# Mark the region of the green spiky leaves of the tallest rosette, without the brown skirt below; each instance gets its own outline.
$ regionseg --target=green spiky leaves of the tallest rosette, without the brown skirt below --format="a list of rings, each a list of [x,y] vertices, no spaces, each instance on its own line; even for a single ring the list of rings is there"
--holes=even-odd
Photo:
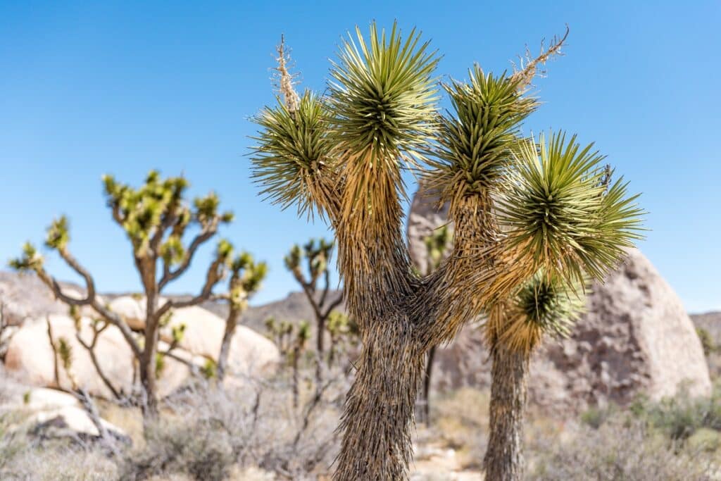
[[[428,47],[415,29],[403,38],[395,22],[387,34],[373,22],[368,40],[356,27],[355,37],[343,41],[332,63],[328,101],[341,151],[371,154],[372,162],[421,156],[433,135],[438,100],[438,57]]]

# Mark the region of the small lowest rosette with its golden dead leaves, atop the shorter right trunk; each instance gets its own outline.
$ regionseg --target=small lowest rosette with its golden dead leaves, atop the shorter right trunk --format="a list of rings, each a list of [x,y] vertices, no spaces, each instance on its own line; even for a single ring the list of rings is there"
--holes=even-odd
[[[531,353],[544,334],[567,337],[583,312],[583,286],[539,270],[510,301],[491,309],[485,334],[491,345]]]

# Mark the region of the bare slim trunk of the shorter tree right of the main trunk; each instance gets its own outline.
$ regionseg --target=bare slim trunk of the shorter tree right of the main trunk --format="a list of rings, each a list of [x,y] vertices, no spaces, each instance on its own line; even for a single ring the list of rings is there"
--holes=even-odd
[[[528,355],[497,346],[492,354],[490,438],[483,460],[487,481],[521,481]]]

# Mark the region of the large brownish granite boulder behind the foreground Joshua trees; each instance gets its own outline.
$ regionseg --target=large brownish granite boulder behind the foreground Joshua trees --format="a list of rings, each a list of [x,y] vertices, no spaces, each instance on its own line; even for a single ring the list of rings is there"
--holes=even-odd
[[[430,212],[430,213],[429,213]],[[430,219],[430,221],[429,221]],[[425,265],[423,237],[446,222],[427,199],[413,201],[408,237],[413,259]],[[637,394],[652,398],[708,394],[704,352],[681,300],[639,250],[603,283],[594,283],[588,312],[566,340],[547,339],[534,355],[528,389],[547,412],[574,412]],[[438,350],[436,389],[490,385],[490,362],[477,325]]]

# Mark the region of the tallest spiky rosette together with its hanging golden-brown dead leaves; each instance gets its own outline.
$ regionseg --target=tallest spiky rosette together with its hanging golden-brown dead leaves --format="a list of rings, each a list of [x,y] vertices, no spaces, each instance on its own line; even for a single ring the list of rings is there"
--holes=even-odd
[[[438,58],[412,30],[394,24],[368,40],[356,27],[340,45],[330,71],[332,141],[345,181],[342,219],[349,230],[392,237],[402,212],[401,168],[416,164],[433,137]]]

